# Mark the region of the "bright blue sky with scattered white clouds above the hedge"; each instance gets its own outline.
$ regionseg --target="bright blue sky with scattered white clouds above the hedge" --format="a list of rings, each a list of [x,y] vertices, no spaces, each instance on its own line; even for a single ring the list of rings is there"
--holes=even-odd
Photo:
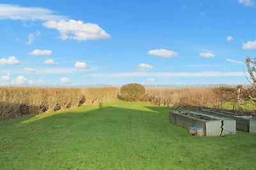
[[[0,85],[246,84],[256,4],[1,1]]]

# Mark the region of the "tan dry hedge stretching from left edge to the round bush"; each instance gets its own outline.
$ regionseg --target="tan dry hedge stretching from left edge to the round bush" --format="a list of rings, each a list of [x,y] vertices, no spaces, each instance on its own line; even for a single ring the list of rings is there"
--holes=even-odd
[[[118,88],[0,87],[0,120],[116,99]]]

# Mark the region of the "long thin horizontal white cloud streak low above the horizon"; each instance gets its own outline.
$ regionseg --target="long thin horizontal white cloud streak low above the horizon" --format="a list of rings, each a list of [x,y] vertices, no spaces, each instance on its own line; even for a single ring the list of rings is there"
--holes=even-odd
[[[226,77],[226,76],[244,76],[244,72],[220,72],[220,71],[205,71],[205,72],[161,72],[161,73],[145,73],[145,72],[134,72],[134,73],[106,73],[106,74],[86,74],[89,77]]]

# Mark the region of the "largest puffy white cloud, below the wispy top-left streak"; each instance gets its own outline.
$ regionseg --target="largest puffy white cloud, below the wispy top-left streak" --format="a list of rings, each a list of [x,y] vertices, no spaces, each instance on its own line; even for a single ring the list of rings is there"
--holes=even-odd
[[[97,24],[83,23],[81,20],[50,20],[44,22],[44,26],[49,29],[57,29],[60,32],[60,38],[76,39],[78,41],[108,39],[109,34]]]

